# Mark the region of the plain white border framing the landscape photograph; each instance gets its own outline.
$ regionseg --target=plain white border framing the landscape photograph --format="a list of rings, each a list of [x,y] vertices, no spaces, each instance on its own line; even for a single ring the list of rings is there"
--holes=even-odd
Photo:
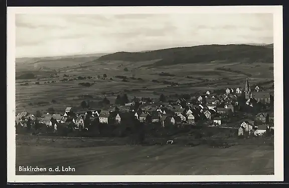
[[[15,174],[15,14],[273,13],[274,17],[274,175],[16,175]],[[200,182],[283,181],[282,6],[8,7],[7,161],[8,182]]]

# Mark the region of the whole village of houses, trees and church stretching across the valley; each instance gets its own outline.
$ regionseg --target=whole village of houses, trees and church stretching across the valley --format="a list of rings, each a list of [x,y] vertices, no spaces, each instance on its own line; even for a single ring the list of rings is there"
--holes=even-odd
[[[123,99],[124,97],[124,99]],[[106,99],[106,98],[105,98]],[[274,129],[273,96],[258,86],[251,88],[246,79],[244,88],[226,88],[225,93],[207,90],[200,95],[167,100],[161,94],[158,101],[150,98],[118,96],[116,104],[103,109],[77,112],[66,107],[63,113],[16,115],[16,132],[23,129],[43,129],[57,133],[60,130],[94,131],[96,126],[141,123],[156,126],[214,126],[233,128],[238,136],[272,135]],[[125,128],[124,128],[125,129]],[[97,130],[99,131],[99,130]]]

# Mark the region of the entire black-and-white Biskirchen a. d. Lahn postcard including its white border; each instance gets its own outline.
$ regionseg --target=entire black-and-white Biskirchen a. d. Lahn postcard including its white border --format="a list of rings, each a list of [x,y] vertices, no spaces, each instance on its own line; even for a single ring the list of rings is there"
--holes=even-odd
[[[282,6],[11,7],[8,55],[13,182],[283,178]]]

